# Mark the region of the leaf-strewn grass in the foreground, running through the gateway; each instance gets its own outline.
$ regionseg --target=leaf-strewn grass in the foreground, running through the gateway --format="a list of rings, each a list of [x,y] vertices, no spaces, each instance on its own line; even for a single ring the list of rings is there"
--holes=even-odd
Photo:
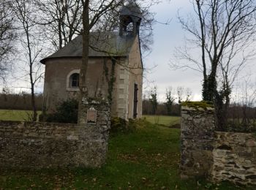
[[[181,180],[179,129],[141,122],[137,129],[110,135],[102,168],[1,171],[0,189],[242,189]]]

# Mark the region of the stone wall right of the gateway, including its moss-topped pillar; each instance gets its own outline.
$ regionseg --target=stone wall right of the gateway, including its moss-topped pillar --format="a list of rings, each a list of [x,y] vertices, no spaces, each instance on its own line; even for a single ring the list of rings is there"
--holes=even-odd
[[[181,178],[256,185],[256,135],[215,132],[213,108],[181,108]]]

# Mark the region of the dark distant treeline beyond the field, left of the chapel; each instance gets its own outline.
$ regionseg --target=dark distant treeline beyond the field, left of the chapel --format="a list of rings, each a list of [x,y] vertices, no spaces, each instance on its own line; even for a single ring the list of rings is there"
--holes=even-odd
[[[37,110],[42,110],[42,94],[36,94]],[[32,110],[31,94],[0,94],[1,110]]]

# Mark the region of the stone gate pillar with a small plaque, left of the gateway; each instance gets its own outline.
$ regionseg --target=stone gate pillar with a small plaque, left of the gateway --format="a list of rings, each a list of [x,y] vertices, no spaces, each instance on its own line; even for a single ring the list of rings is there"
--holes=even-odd
[[[105,163],[110,130],[110,104],[101,98],[82,99],[78,159],[82,165],[99,167]],[[90,140],[90,142],[89,142]]]

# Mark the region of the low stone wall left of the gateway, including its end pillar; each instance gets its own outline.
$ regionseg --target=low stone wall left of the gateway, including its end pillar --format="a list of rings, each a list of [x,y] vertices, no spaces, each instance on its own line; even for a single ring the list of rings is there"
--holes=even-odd
[[[110,109],[99,102],[90,105],[98,110],[95,124],[0,121],[0,170],[99,167],[104,164]]]

